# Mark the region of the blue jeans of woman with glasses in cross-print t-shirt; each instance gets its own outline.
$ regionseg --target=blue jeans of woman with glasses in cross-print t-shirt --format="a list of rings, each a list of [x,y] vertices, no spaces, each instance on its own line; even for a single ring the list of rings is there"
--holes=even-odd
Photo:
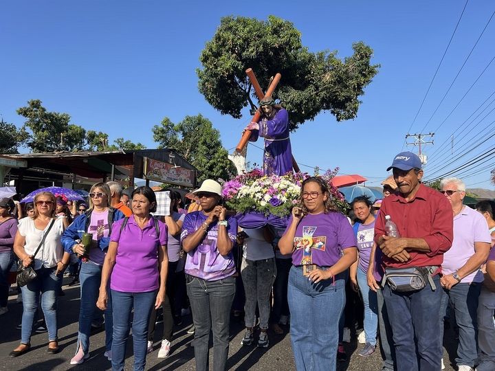
[[[336,370],[338,324],[345,303],[345,273],[313,284],[303,269],[289,272],[290,333],[298,371]]]

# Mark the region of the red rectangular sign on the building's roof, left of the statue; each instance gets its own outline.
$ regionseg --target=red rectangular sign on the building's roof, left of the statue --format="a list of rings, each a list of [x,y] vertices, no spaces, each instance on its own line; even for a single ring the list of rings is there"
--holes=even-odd
[[[181,168],[163,161],[144,157],[144,179],[161,181],[177,186],[192,187],[195,183],[194,170]]]

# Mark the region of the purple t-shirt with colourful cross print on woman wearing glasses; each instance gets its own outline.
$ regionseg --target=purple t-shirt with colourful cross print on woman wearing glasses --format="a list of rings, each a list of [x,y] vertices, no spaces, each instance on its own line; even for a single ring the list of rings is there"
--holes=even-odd
[[[292,216],[289,227],[291,223]],[[353,229],[344,215],[338,212],[307,214],[296,229],[292,264],[330,267],[340,259],[342,250],[355,245]]]

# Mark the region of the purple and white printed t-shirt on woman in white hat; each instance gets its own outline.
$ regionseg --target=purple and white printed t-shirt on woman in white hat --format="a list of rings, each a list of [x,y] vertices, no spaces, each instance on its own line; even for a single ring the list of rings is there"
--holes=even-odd
[[[208,216],[201,211],[187,214],[182,225],[181,241],[201,228],[206,218]],[[235,218],[228,218],[227,232],[232,243],[235,243],[237,233]],[[201,240],[198,247],[188,252],[185,267],[187,274],[206,281],[217,281],[236,273],[232,251],[227,256],[221,256],[217,249],[217,238],[218,223],[215,221],[208,227],[208,234]]]

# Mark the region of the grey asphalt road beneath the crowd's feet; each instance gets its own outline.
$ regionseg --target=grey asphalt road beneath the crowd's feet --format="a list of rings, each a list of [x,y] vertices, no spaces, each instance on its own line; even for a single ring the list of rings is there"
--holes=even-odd
[[[65,280],[68,280],[67,278]],[[59,303],[59,328],[58,337],[61,352],[58,355],[47,355],[47,333],[35,334],[32,337],[32,350],[17,358],[8,357],[8,353],[14,349],[21,337],[21,330],[16,330],[20,322],[22,304],[15,302],[16,296],[10,296],[9,312],[0,317],[0,370],[25,370],[25,371],[45,371],[45,370],[110,370],[110,362],[103,357],[104,352],[104,332],[95,333],[91,336],[90,355],[91,357],[82,365],[71,366],[69,360],[74,355],[77,341],[77,318],[79,308],[79,286],[64,286],[65,296],[61,297]],[[175,339],[172,344],[172,352],[167,359],[157,359],[159,339],[162,335],[162,328],[157,325],[155,333],[155,350],[146,359],[146,370],[195,370],[194,351],[190,346],[192,335],[187,334],[190,326],[190,316],[184,317],[184,323],[175,328]],[[228,359],[229,370],[295,370],[294,359],[290,346],[290,335],[270,334],[270,347],[267,349],[256,348],[255,346],[241,346],[243,337],[243,326],[232,318],[231,326],[231,346]],[[361,345],[355,341],[345,344],[348,354],[352,354],[349,362],[340,363],[339,371],[371,371],[380,370],[381,357],[379,352],[371,357],[363,359],[358,356]],[[451,349],[450,349],[451,350]],[[452,350],[451,350],[452,351]],[[454,370],[448,365],[449,356],[445,351],[445,370]],[[454,356],[450,359],[454,359]],[[132,369],[132,345],[128,345],[128,357],[126,359],[126,370]],[[210,365],[212,370],[212,365]]]

